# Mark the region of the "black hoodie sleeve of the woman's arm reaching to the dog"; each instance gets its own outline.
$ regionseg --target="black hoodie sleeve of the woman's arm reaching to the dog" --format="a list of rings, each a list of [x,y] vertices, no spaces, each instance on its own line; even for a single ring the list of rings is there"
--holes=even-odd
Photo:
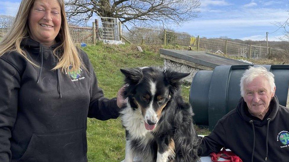
[[[97,78],[89,61],[89,72],[91,73],[90,104],[88,117],[98,120],[116,119],[120,108],[116,104],[116,98],[107,99],[103,91],[98,87]]]

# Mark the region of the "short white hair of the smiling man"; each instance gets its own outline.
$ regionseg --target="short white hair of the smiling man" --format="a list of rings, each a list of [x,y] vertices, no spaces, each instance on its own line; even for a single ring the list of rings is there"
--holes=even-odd
[[[268,81],[271,88],[270,89],[271,92],[274,92],[275,87],[274,74],[271,73],[270,71],[267,71],[267,69],[264,68],[263,66],[256,66],[256,67],[251,66],[249,69],[245,71],[240,81],[240,91],[242,97],[245,96],[244,91],[245,84],[252,82],[253,79],[259,76],[263,76]]]

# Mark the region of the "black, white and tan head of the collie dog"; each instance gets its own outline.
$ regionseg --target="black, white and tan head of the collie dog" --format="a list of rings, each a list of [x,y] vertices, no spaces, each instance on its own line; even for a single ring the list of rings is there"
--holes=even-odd
[[[145,128],[153,130],[161,117],[163,108],[176,91],[180,80],[190,73],[179,73],[155,67],[121,69],[128,84],[124,96],[131,107],[140,108]]]

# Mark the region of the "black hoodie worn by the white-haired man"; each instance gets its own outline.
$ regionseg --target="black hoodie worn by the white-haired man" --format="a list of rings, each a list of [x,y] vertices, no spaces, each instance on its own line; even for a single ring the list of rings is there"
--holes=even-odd
[[[274,96],[269,111],[260,120],[250,115],[241,98],[237,108],[220,119],[213,132],[203,138],[198,152],[207,156],[219,152],[223,146],[244,162],[289,161],[289,109],[279,105]]]

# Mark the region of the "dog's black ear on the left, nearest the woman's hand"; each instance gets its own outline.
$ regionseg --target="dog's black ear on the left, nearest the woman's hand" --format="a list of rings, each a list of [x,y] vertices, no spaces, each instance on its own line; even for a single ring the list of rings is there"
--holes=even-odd
[[[126,77],[125,82],[130,85],[138,84],[143,77],[142,70],[139,68],[121,69],[121,72]]]

